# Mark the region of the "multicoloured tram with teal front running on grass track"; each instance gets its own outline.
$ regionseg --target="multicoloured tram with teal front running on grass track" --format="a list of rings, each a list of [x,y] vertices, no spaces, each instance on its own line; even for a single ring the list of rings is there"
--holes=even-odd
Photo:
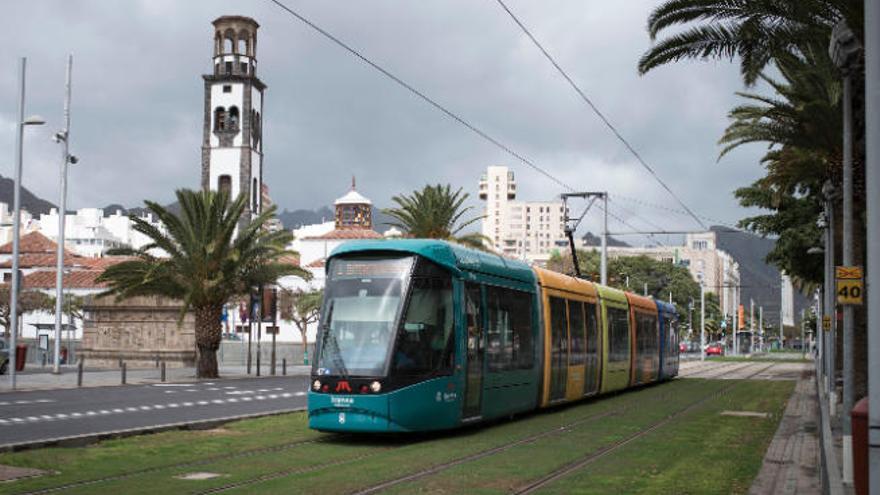
[[[326,270],[316,430],[451,429],[678,374],[651,298],[437,240],[346,243]]]

